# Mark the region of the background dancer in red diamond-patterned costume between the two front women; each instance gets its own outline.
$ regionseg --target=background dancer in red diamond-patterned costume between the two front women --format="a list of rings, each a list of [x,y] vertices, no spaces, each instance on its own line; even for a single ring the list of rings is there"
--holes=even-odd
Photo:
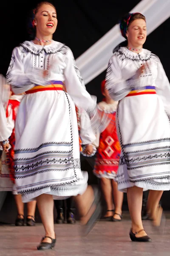
[[[102,102],[99,102],[98,108],[109,114],[111,122],[97,136],[99,137],[99,147],[96,154],[94,175],[100,178],[102,192],[107,205],[104,219],[107,221],[121,221],[123,192],[118,191],[118,184],[116,182],[121,151],[116,131],[116,108],[118,102],[111,99],[108,90],[105,89],[105,80],[102,81],[101,91],[105,98]]]

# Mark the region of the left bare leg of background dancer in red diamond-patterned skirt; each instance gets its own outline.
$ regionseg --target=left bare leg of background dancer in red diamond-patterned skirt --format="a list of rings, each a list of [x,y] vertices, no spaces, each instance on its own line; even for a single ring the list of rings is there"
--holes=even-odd
[[[107,178],[101,178],[100,184],[101,184],[102,192],[105,198],[107,210],[114,209],[111,180]],[[113,212],[106,212],[105,217],[109,217],[109,216],[113,216]]]

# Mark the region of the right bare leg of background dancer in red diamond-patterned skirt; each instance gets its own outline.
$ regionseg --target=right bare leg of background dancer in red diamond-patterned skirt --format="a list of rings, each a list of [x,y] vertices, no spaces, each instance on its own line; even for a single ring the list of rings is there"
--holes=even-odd
[[[123,192],[118,190],[118,184],[115,180],[112,180],[113,186],[113,201],[115,206],[115,212],[122,215],[122,204],[123,204]],[[120,220],[120,216],[114,214],[114,218]]]

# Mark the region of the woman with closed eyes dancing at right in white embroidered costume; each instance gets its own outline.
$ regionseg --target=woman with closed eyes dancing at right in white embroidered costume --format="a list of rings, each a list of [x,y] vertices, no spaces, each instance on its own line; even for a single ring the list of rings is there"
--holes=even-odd
[[[163,190],[170,189],[170,84],[159,58],[143,49],[145,17],[129,13],[120,28],[127,47],[114,52],[106,75],[106,88],[119,101],[117,131],[122,152],[118,188],[127,189],[130,239],[151,241],[142,225],[142,194],[143,189],[150,189],[148,211],[153,224],[159,225],[159,201]]]

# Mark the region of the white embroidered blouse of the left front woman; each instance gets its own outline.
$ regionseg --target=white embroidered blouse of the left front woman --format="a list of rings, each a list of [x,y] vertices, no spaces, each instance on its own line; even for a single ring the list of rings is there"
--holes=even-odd
[[[47,70],[45,79],[44,70]],[[71,49],[56,41],[46,46],[25,41],[15,47],[6,78],[15,94],[23,93],[35,84],[45,86],[51,80],[62,81],[77,106],[85,111],[93,111],[96,106],[96,97],[85,89]]]

